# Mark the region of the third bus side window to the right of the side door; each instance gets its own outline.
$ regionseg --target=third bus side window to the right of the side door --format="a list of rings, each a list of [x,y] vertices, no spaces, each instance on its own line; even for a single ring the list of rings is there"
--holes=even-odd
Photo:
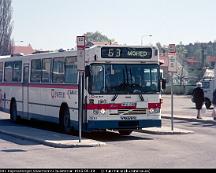
[[[53,72],[52,72],[52,81],[53,83],[64,83],[64,65],[65,59],[55,58],[53,60]]]

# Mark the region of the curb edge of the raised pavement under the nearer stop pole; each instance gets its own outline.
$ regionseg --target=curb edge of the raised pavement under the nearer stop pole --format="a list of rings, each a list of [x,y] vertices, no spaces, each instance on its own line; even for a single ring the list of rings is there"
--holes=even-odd
[[[46,146],[55,147],[55,148],[99,147],[99,146],[106,145],[106,143],[104,143],[104,142],[88,142],[89,139],[82,139],[81,143],[79,143],[79,141],[76,140],[76,142],[74,142],[74,144],[68,144],[68,142],[63,144],[63,143],[59,143],[59,141],[42,140],[42,139],[34,138],[31,136],[20,135],[20,134],[14,133],[14,132],[7,132],[7,131],[1,130],[1,129],[0,129],[0,133],[10,135],[13,137],[17,137],[20,139],[31,140],[31,141],[38,142],[38,143],[44,144]]]

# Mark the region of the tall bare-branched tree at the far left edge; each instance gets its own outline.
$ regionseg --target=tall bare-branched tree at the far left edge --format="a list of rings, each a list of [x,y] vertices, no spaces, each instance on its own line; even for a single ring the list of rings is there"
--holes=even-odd
[[[11,0],[0,0],[0,55],[12,53],[12,29]]]

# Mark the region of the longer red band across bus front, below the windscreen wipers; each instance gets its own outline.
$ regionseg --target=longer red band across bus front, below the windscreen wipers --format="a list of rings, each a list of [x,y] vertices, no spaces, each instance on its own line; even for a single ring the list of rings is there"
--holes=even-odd
[[[136,109],[136,106],[123,106],[122,104],[87,104],[86,109]]]

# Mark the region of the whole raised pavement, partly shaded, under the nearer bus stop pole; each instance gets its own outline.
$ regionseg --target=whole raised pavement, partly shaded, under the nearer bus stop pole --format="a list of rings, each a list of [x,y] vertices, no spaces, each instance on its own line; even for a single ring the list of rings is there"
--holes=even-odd
[[[14,137],[32,140],[47,146],[56,148],[72,148],[72,147],[96,147],[105,145],[104,142],[99,142],[91,139],[56,133],[48,130],[41,130],[20,125],[0,126],[0,133],[11,135]]]

